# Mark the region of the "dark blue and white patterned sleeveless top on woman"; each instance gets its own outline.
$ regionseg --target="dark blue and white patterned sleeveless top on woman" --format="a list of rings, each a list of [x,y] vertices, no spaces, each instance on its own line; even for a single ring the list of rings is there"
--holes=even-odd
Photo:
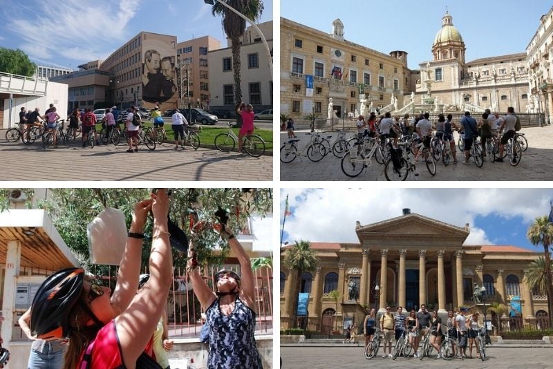
[[[219,308],[219,299],[207,311],[209,354],[207,368],[263,369],[256,348],[255,312],[236,297],[232,314],[226,316]]]

